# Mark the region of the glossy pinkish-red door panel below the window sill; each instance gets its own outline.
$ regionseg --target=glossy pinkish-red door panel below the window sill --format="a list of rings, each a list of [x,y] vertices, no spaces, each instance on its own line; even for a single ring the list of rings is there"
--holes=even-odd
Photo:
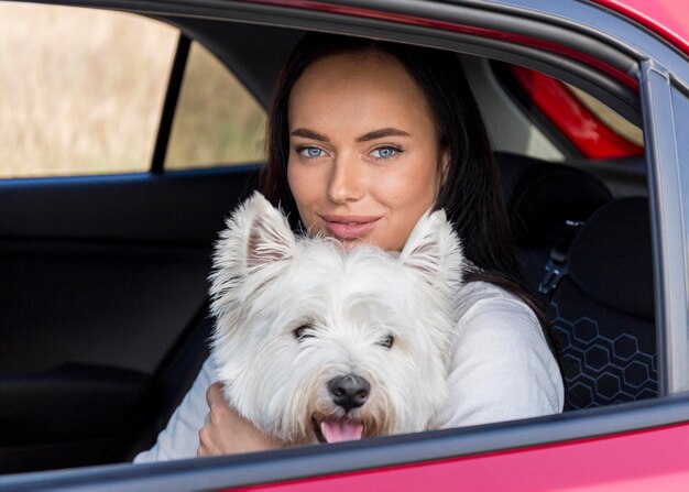
[[[689,424],[240,490],[686,491]]]

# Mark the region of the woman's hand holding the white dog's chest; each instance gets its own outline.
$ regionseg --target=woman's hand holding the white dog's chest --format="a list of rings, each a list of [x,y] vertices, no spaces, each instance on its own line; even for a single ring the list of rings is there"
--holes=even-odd
[[[240,417],[228,405],[222,396],[220,383],[211,384],[208,387],[206,402],[208,402],[209,411],[206,424],[198,433],[199,447],[196,455],[199,458],[265,451],[278,447],[277,442],[261,434],[259,429]]]

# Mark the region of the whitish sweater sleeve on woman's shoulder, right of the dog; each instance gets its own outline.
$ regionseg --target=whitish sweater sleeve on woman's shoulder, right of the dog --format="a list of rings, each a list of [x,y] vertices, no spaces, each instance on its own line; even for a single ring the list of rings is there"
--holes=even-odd
[[[459,318],[450,396],[438,415],[439,427],[562,411],[560,371],[536,316],[516,297],[486,285]]]

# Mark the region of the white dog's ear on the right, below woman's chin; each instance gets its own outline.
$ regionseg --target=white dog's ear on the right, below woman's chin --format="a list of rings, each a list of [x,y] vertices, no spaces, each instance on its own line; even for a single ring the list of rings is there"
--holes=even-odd
[[[400,261],[431,285],[442,283],[453,288],[461,282],[462,248],[445,210],[428,210],[422,216],[400,254]]]

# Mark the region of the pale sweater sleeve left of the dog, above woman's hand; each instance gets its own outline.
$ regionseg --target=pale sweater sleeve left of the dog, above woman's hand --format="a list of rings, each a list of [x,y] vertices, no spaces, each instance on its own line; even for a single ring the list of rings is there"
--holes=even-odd
[[[134,463],[196,458],[198,433],[208,414],[206,390],[215,382],[215,373],[212,359],[208,358],[155,445],[136,455]]]

